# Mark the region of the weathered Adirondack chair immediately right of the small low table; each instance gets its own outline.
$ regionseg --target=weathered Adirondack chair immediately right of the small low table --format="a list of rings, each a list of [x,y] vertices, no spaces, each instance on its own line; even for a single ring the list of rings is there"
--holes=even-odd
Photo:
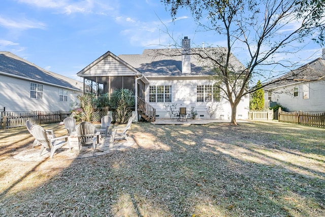
[[[96,135],[95,130],[95,126],[89,122],[81,122],[76,126],[79,141],[79,151],[81,146],[90,144],[92,144],[93,151],[95,151],[96,139],[98,139],[98,135]]]

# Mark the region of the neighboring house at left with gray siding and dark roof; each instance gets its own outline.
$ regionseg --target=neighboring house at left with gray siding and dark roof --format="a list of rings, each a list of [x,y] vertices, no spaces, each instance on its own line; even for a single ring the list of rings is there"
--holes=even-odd
[[[0,52],[0,107],[6,111],[70,111],[83,84]]]

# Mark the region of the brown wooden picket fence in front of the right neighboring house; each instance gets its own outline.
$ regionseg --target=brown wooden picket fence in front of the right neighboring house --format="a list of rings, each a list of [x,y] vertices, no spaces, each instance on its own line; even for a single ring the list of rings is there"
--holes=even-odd
[[[325,112],[308,113],[305,111],[286,112],[279,108],[278,120],[289,123],[299,123],[312,127],[325,128]]]

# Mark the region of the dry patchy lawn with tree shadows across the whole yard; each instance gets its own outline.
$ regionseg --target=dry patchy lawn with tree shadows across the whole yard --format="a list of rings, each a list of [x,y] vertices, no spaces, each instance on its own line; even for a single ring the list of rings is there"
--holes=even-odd
[[[0,215],[325,216],[325,129],[139,122],[129,135],[123,151],[23,161],[34,139],[0,130]]]

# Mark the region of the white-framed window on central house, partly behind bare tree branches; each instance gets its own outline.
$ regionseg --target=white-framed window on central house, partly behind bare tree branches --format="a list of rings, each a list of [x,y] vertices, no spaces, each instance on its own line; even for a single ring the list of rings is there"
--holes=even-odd
[[[219,102],[220,87],[218,85],[197,85],[197,102]]]

